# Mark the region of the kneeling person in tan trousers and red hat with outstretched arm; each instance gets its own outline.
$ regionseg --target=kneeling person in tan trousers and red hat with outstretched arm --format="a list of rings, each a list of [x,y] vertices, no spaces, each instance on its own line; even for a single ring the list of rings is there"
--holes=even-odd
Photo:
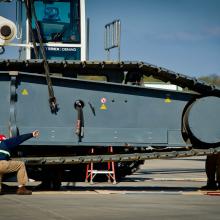
[[[36,138],[39,135],[40,133],[37,130],[32,133],[19,135],[9,139],[6,139],[4,135],[0,135],[0,178],[6,173],[17,172],[18,195],[31,195],[32,192],[25,188],[25,185],[28,182],[28,176],[24,162],[10,160],[10,153],[13,150],[16,150],[16,148],[24,141],[32,137]]]

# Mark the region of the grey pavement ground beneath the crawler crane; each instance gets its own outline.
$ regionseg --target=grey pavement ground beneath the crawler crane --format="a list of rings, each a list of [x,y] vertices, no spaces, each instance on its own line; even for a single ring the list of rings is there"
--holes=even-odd
[[[0,220],[219,219],[220,191],[199,190],[204,165],[205,158],[150,160],[115,185],[63,183],[60,191],[2,195]]]

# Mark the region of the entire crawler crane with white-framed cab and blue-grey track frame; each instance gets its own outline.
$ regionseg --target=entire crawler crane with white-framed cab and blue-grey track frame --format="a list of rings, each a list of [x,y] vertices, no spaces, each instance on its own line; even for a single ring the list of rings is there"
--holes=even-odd
[[[219,88],[145,62],[88,61],[84,0],[18,0],[17,15],[0,17],[1,51],[16,35],[20,47],[0,60],[0,132],[41,131],[13,155],[31,178],[59,188],[91,161],[115,161],[119,179],[147,159],[220,151]],[[144,76],[187,92],[145,88]]]

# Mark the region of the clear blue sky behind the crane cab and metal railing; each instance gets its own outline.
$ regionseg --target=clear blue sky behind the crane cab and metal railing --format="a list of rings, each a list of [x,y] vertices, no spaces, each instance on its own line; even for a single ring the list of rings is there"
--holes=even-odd
[[[190,76],[220,75],[220,0],[86,0],[86,13],[91,60],[106,59],[104,26],[120,19],[121,60],[145,61]],[[15,12],[1,3],[0,15],[6,14]]]

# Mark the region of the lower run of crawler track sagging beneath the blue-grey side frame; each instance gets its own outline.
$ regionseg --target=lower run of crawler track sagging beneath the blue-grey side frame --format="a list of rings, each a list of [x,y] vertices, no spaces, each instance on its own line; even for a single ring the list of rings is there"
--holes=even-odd
[[[209,149],[190,149],[180,151],[153,151],[150,153],[110,154],[110,155],[86,155],[66,157],[19,157],[15,160],[24,161],[27,165],[56,165],[56,164],[82,164],[82,163],[103,163],[108,161],[126,162],[152,159],[170,159],[193,156],[206,156],[220,153],[220,147]]]

